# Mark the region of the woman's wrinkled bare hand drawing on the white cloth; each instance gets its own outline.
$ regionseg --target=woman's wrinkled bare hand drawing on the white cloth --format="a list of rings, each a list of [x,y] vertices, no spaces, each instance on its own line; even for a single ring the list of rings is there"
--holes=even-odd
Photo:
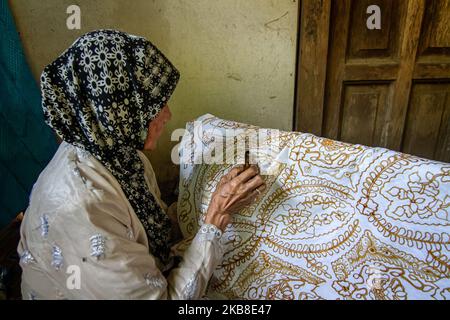
[[[252,165],[246,170],[243,166],[231,169],[220,179],[212,195],[205,223],[225,230],[231,215],[255,201],[265,188],[257,166]]]

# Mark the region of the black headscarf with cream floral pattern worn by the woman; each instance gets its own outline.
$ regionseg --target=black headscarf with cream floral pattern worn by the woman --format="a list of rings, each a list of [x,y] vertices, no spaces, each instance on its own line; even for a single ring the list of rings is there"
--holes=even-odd
[[[46,123],[90,152],[120,183],[142,222],[150,251],[163,263],[171,224],[144,179],[137,153],[180,74],[148,40],[98,30],[76,40],[41,76]]]

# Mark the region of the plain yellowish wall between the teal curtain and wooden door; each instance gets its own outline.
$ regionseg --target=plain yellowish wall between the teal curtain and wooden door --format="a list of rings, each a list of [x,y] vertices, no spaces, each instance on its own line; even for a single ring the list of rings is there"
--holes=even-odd
[[[36,79],[81,34],[116,28],[145,36],[181,72],[173,120],[150,155],[160,181],[174,176],[170,132],[204,113],[292,129],[297,0],[9,0]],[[66,9],[81,8],[81,30]]]

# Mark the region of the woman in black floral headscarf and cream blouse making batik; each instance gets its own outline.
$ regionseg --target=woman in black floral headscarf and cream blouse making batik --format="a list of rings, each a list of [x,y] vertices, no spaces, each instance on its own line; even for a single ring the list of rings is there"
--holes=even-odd
[[[149,41],[115,30],[85,34],[44,69],[45,120],[63,142],[21,228],[24,299],[204,295],[231,215],[265,186],[255,167],[222,177],[204,225],[173,263],[175,206],[161,200],[140,150],[155,148],[178,79]]]

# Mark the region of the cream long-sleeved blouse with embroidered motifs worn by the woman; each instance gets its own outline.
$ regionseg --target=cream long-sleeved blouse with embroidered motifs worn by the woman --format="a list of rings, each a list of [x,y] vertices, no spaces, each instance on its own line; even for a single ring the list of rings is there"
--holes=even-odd
[[[139,152],[151,192],[150,161]],[[63,142],[39,176],[18,246],[24,299],[198,299],[223,249],[221,231],[200,228],[167,278],[149,254],[144,228],[111,173]]]

